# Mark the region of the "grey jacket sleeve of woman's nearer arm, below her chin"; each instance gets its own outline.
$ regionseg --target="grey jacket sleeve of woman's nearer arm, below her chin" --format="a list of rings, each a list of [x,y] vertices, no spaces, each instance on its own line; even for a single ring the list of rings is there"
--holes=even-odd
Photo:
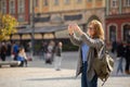
[[[103,40],[101,40],[101,39],[92,39],[84,33],[82,34],[81,39],[88,46],[94,47],[94,48],[101,48],[104,45]]]

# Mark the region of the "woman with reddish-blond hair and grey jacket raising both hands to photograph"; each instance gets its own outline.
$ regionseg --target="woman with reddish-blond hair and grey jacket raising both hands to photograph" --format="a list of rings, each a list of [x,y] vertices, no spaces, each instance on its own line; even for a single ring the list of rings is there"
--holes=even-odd
[[[80,37],[77,37],[75,32],[77,32]],[[94,50],[96,49],[99,52],[104,45],[102,24],[93,20],[89,23],[87,34],[83,33],[78,25],[72,24],[68,26],[68,33],[72,42],[80,48],[76,77],[81,73],[81,87],[98,87],[98,76],[93,69],[93,59],[95,58]]]

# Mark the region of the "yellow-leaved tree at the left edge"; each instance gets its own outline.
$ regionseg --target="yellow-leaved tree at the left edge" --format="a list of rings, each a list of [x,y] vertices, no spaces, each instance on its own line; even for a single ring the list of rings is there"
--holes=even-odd
[[[0,40],[6,40],[11,34],[16,33],[17,24],[15,17],[0,14]]]

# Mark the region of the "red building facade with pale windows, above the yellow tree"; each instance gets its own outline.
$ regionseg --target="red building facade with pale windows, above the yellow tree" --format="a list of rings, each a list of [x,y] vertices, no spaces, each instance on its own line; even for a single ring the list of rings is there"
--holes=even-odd
[[[11,14],[20,25],[29,24],[29,0],[0,0],[2,14]]]

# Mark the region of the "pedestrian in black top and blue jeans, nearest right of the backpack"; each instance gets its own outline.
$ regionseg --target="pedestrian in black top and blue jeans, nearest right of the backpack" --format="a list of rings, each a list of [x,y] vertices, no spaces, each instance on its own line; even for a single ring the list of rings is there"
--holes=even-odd
[[[123,69],[122,69],[123,58],[125,58],[125,48],[122,42],[119,42],[117,46],[117,60],[118,60],[117,74],[119,73],[119,71],[123,73]]]

